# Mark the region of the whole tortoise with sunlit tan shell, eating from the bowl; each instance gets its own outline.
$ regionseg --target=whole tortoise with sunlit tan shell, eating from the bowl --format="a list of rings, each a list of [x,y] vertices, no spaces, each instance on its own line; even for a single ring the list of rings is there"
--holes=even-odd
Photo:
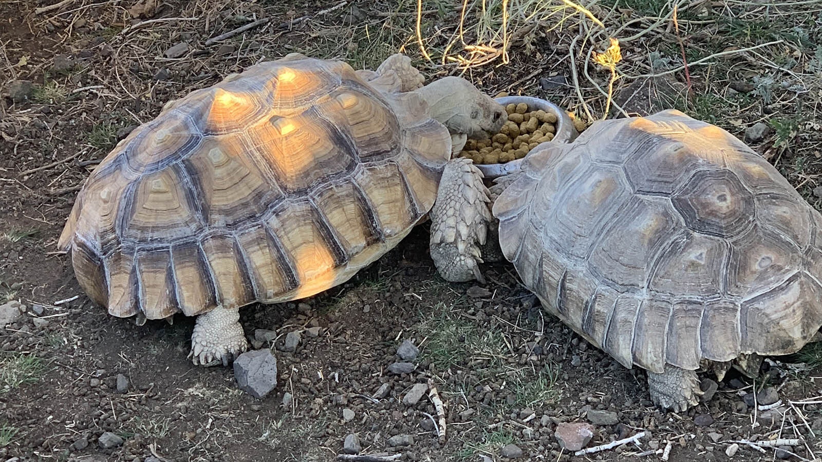
[[[113,316],[196,316],[205,366],[247,349],[240,307],[349,280],[429,212],[438,266],[474,274],[457,249],[484,240],[488,198],[450,157],[506,111],[459,77],[422,83],[401,54],[355,72],[291,53],[193,91],[91,173],[58,247]]]

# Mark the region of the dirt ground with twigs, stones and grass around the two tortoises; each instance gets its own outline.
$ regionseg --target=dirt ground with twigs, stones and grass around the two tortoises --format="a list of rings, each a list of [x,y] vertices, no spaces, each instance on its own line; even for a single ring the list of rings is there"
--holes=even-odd
[[[729,460],[733,445],[730,460],[822,454],[818,345],[770,358],[755,381],[732,371],[713,400],[662,413],[649,401],[644,372],[621,367],[533,306],[510,266],[483,266],[482,287],[441,280],[425,225],[341,287],[242,311],[247,335],[277,335],[256,345],[273,348],[279,361],[279,386],[262,400],[238,390],[230,367],[192,365],[191,318],[136,326],[93,306],[55,243],[90,170],[169,99],[293,51],[373,68],[403,49],[429,79],[459,73],[423,59],[416,2],[342,3],[68,0],[41,12],[47,3],[0,2],[0,303],[27,307],[0,330],[0,460],[335,460],[352,433],[363,454],[438,462],[500,460],[509,444],[523,450],[520,460],[534,461],[658,460],[668,443],[668,460],[677,462]],[[436,61],[457,30],[461,2],[423,3],[421,36]],[[588,53],[617,36],[619,108],[673,106],[748,136],[822,208],[819,3],[697,1],[679,5],[678,16],[658,0],[592,3],[604,30],[568,7],[543,5],[544,15],[530,21],[513,10],[537,3],[511,3],[510,17],[519,20],[510,22],[510,62],[464,76],[489,94],[543,97],[590,122],[605,111],[597,86],[607,94],[609,73]],[[483,17],[500,4],[488,2]],[[273,19],[205,44],[260,18]],[[469,44],[487,36],[483,24],[475,18],[466,27]],[[187,44],[182,56],[167,57],[179,43]],[[12,80],[33,86],[15,89]],[[761,136],[752,128],[758,122]],[[71,301],[56,303],[63,299]],[[307,335],[316,326],[319,335]],[[302,340],[286,353],[279,347],[291,331]],[[406,339],[420,346],[416,368],[392,374],[387,367]],[[445,442],[432,428],[427,397],[402,402],[429,380],[446,402]],[[387,395],[372,398],[384,384]],[[765,387],[783,402],[775,412],[750,403],[750,392]],[[592,418],[591,409],[607,413]],[[592,419],[589,446],[645,436],[584,456],[560,449],[557,423]],[[104,432],[122,444],[103,448]],[[413,441],[390,446],[398,435]],[[792,454],[734,442],[777,437],[801,441],[785,448]]]

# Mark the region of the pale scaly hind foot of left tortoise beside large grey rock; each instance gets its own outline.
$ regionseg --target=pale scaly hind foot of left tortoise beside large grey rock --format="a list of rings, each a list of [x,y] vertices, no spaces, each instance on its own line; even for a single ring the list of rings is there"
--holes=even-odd
[[[248,342],[242,332],[238,308],[216,307],[197,316],[192,351],[188,354],[195,364],[228,366],[247,349]]]

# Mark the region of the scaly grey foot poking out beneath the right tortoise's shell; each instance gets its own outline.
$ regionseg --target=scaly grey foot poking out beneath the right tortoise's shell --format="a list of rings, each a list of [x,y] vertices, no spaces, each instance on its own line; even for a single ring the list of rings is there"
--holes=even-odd
[[[700,379],[695,371],[665,365],[661,374],[648,372],[648,388],[653,404],[674,412],[684,412],[699,403]]]

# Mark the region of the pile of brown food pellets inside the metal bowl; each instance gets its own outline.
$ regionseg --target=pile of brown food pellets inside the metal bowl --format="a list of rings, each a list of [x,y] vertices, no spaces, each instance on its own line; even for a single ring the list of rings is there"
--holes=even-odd
[[[542,109],[530,110],[528,104],[508,104],[508,121],[499,133],[488,133],[486,140],[465,143],[458,157],[474,164],[504,164],[522,159],[539,143],[551,141],[556,133],[556,115]]]

